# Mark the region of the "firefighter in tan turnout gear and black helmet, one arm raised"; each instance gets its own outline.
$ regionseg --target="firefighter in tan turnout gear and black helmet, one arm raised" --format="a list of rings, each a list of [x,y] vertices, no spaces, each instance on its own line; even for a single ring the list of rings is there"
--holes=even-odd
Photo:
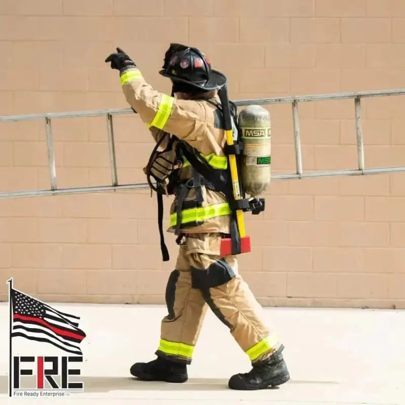
[[[221,108],[216,104],[217,92],[226,84],[226,77],[212,69],[209,59],[198,49],[171,44],[159,71],[171,79],[169,96],[154,90],[123,50],[116,51],[105,62],[119,71],[128,104],[147,125],[154,140],[159,142],[172,134],[177,144],[194,148],[204,156],[215,173],[226,171],[225,131]],[[170,144],[168,139],[163,146]],[[175,160],[176,142],[169,146]],[[164,166],[159,166],[161,172],[167,173]],[[173,171],[168,173],[173,175]],[[166,288],[168,315],[161,321],[157,358],[135,363],[131,374],[148,381],[187,381],[187,365],[209,307],[229,328],[252,363],[249,373],[230,378],[229,388],[253,390],[286,383],[290,375],[282,356],[284,346],[265,325],[262,307],[238,272],[236,255],[220,255],[221,238],[230,233],[226,195],[198,175],[184,157],[176,179],[175,184],[172,181],[175,200],[168,231],[178,234],[180,241]]]

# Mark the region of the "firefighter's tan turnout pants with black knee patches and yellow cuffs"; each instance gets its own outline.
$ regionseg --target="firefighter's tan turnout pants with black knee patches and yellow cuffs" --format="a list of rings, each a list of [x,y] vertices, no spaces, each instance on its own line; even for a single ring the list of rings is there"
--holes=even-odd
[[[252,363],[280,346],[261,318],[262,307],[241,276],[235,256],[219,256],[221,235],[188,234],[166,288],[158,356],[191,363],[208,307],[226,325]]]

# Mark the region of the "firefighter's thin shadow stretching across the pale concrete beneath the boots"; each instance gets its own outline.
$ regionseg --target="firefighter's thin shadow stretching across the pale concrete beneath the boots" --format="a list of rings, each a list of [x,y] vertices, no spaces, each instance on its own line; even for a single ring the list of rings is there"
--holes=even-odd
[[[224,391],[228,390],[228,379],[222,378],[190,378],[182,384],[171,384],[158,381],[141,381],[133,377],[70,377],[69,381],[84,383],[85,392],[109,391]],[[8,376],[0,376],[0,394],[8,393]],[[304,381],[290,380],[287,384],[339,384],[336,381]],[[35,378],[21,377],[21,388],[34,388]],[[278,389],[278,387],[269,388]]]

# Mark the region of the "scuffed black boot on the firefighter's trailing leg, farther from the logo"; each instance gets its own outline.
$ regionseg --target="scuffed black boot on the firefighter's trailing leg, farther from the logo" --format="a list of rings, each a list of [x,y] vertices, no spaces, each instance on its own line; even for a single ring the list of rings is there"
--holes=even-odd
[[[253,363],[253,369],[249,373],[232,376],[228,382],[229,388],[255,390],[286,383],[290,380],[290,374],[282,358],[283,349],[284,346],[281,345],[270,357]]]

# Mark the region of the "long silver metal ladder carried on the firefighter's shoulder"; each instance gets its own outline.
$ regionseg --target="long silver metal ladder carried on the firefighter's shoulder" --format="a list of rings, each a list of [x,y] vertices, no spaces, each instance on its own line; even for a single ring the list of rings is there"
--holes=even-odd
[[[355,175],[370,175],[370,174],[378,174],[378,173],[405,172],[405,166],[381,167],[381,168],[369,168],[369,169],[365,168],[363,133],[362,133],[361,114],[360,114],[360,100],[362,98],[398,96],[398,95],[404,95],[404,94],[405,94],[405,89],[395,89],[395,90],[381,90],[381,91],[357,92],[357,93],[334,93],[334,94],[319,94],[319,95],[293,96],[293,97],[281,97],[281,98],[248,99],[248,100],[237,100],[234,103],[236,104],[236,106],[247,106],[247,105],[253,105],[253,104],[258,104],[258,105],[286,104],[286,103],[289,103],[292,105],[293,124],[294,124],[294,146],[295,146],[295,156],[296,156],[296,173],[281,173],[281,174],[274,174],[271,176],[271,180],[291,180],[291,179],[304,179],[304,178],[311,178],[311,177],[355,176]],[[358,169],[304,172],[302,169],[301,134],[300,134],[300,125],[299,125],[299,117],[298,117],[298,103],[326,101],[326,100],[343,100],[343,99],[354,99],[354,116],[355,116],[356,136],[357,136]],[[149,185],[147,183],[118,184],[117,168],[116,168],[116,160],[115,160],[113,116],[114,115],[123,115],[123,114],[133,114],[133,111],[131,108],[116,108],[116,109],[103,109],[103,110],[91,110],[91,111],[72,111],[72,112],[56,112],[56,113],[45,113],[45,114],[0,116],[0,123],[11,122],[11,121],[37,120],[37,119],[45,120],[46,133],[47,133],[48,163],[49,163],[49,172],[50,172],[50,178],[51,178],[51,188],[48,190],[26,190],[26,191],[0,192],[0,199],[12,198],[12,197],[39,196],[39,195],[77,194],[77,193],[91,193],[91,192],[129,190],[129,189],[149,189]],[[51,121],[53,119],[59,119],[59,118],[77,118],[77,117],[95,117],[95,116],[105,116],[106,117],[110,169],[111,169],[111,185],[58,189],[57,184],[56,184],[55,153],[54,153]],[[404,160],[405,160],[405,158],[404,158]]]

